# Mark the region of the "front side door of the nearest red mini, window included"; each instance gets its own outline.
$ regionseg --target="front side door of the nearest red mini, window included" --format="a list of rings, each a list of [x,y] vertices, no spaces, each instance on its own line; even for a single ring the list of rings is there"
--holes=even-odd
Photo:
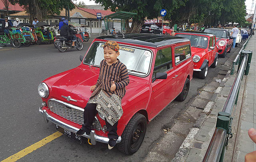
[[[148,111],[151,117],[156,116],[176,97],[176,72],[173,68],[172,59],[172,48],[170,46],[159,49],[156,53],[151,83],[150,110]],[[155,79],[157,72],[166,72],[167,78]]]

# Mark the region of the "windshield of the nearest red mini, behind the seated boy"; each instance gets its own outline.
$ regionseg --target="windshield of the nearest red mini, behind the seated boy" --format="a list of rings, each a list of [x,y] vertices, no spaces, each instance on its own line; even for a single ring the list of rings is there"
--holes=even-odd
[[[84,64],[100,66],[104,59],[104,43],[94,42],[84,58]],[[152,53],[149,50],[119,44],[118,59],[125,64],[130,74],[146,76],[150,70]],[[136,71],[136,72],[135,72]]]

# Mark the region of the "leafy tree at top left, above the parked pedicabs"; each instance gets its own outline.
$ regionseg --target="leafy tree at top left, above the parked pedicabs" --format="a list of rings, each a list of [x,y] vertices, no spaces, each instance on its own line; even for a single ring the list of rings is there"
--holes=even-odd
[[[49,15],[60,14],[66,6],[69,9],[75,8],[70,0],[9,0],[11,4],[19,4],[23,6],[29,15],[30,22],[36,17],[39,21],[43,21]]]

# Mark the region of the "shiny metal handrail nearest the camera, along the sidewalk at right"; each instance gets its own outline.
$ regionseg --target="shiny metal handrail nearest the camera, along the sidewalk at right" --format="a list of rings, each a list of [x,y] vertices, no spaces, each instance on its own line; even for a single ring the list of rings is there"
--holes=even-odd
[[[239,87],[241,84],[242,77],[244,75],[244,69],[246,66],[247,55],[244,55],[242,59],[242,64],[239,68],[238,74],[234,80],[230,93],[228,94],[228,98],[224,104],[222,112],[227,112],[232,114],[233,107],[236,102],[236,97],[239,92]],[[206,154],[204,156],[203,162],[218,162],[220,161],[221,152],[224,151],[224,144],[226,141],[227,130],[223,128],[216,128],[214,135],[212,136],[211,142],[208,146]]]

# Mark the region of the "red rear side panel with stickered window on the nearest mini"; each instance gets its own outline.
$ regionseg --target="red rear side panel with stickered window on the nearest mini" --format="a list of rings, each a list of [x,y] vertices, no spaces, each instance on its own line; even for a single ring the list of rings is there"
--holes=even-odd
[[[187,70],[190,68],[191,62],[190,44],[176,45],[174,48],[174,69],[176,71],[177,78],[175,96],[178,96],[182,91],[185,80],[188,76]]]

